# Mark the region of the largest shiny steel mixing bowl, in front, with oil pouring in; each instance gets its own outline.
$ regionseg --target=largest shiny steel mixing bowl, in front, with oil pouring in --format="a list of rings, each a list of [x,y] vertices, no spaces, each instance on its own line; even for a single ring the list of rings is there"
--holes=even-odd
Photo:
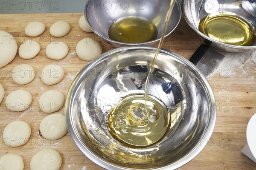
[[[144,93],[131,78],[148,74],[156,48],[128,46],[89,62],[67,93],[65,115],[70,135],[89,159],[106,169],[175,169],[192,160],[212,134],[216,105],[212,88],[187,59],[161,50],[149,80],[148,94],[172,112],[172,124],[157,144],[129,148],[108,131],[108,113],[128,94]]]

